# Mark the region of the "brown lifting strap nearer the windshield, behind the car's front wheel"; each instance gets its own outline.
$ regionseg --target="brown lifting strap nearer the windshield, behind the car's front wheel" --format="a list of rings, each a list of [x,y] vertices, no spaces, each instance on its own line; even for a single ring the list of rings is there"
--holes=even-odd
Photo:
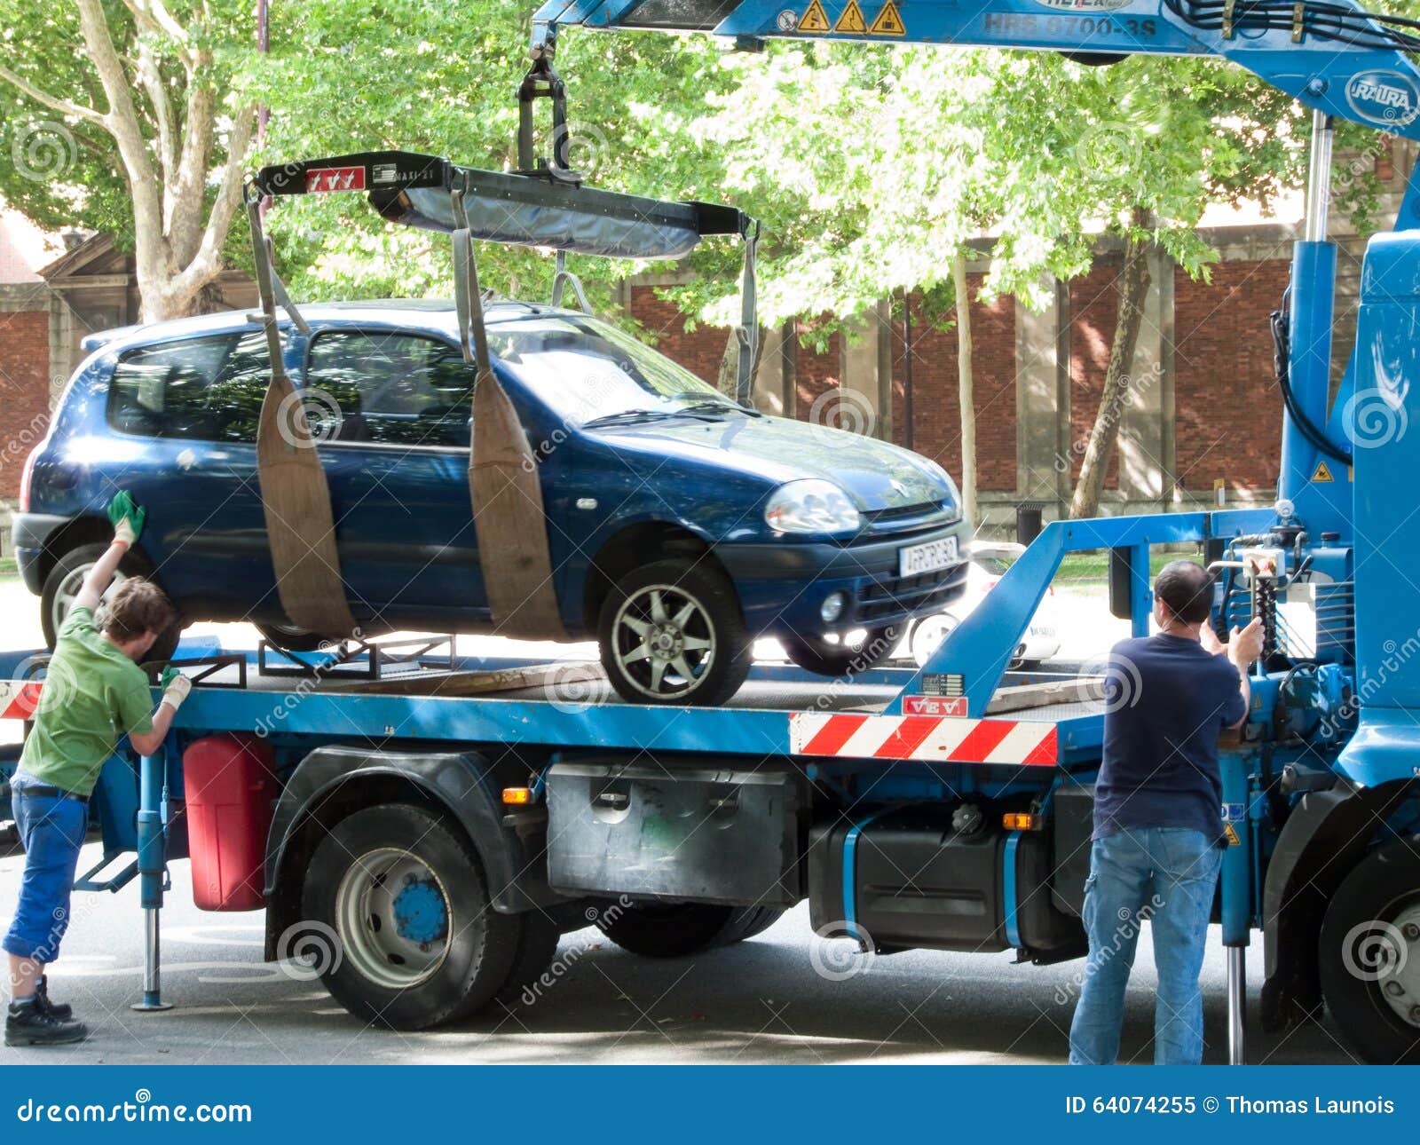
[[[463,188],[453,203],[454,305],[463,357],[473,364],[469,499],[484,594],[496,631],[520,639],[565,639],[552,585],[552,555],[537,459],[507,391],[493,372],[483,295]],[[473,344],[470,345],[470,335]]]

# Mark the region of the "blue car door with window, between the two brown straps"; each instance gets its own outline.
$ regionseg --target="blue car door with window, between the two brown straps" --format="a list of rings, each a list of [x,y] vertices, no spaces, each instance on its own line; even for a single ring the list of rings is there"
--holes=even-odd
[[[371,632],[487,617],[467,477],[473,378],[454,345],[416,331],[311,338],[307,416],[351,609]]]

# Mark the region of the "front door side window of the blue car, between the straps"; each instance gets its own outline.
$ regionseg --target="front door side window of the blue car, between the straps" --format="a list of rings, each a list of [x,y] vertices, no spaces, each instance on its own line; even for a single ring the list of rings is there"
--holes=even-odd
[[[321,440],[467,449],[473,378],[435,338],[327,330],[311,341],[305,412]]]

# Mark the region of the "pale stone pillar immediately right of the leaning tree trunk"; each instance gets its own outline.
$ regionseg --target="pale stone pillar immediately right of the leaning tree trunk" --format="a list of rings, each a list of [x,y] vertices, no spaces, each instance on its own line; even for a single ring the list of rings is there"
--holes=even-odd
[[[1147,501],[1129,511],[1167,509],[1174,487],[1173,260],[1149,251],[1149,294],[1119,422],[1119,493]]]

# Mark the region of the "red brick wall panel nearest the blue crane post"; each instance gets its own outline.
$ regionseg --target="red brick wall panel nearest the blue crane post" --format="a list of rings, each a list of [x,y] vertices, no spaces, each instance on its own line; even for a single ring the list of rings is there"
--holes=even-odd
[[[1282,395],[1272,372],[1268,314],[1288,281],[1285,259],[1224,261],[1213,281],[1174,271],[1177,480],[1210,490],[1277,483]]]

